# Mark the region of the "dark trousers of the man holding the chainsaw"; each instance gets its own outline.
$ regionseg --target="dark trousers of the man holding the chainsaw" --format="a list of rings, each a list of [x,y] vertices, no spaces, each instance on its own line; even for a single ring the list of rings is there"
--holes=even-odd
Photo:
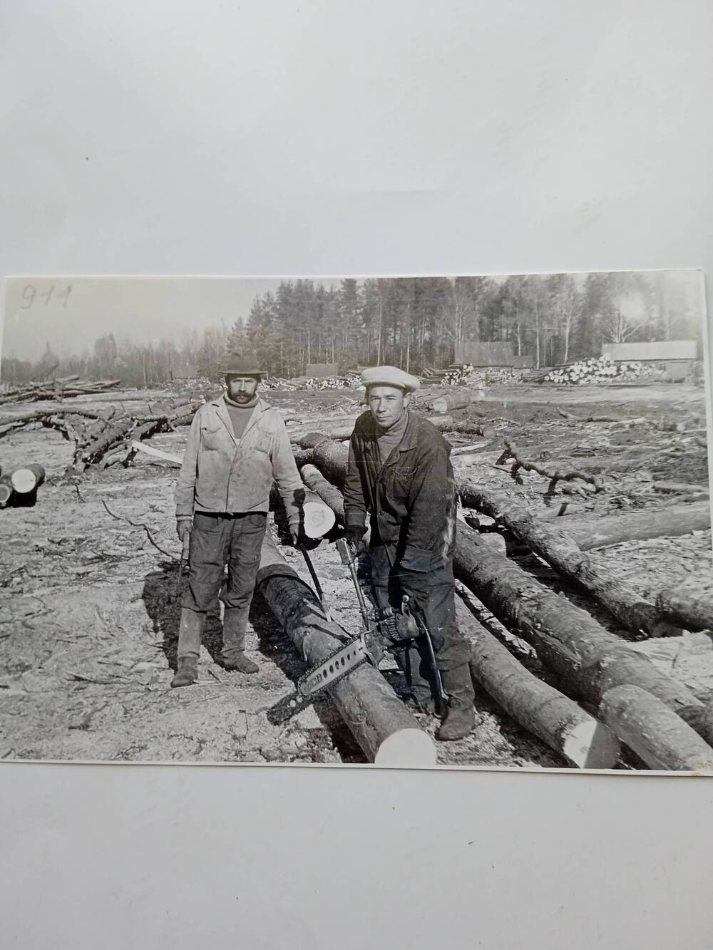
[[[470,646],[461,636],[455,621],[453,563],[449,562],[436,571],[404,571],[394,562],[393,548],[375,544],[370,553],[377,606],[398,610],[401,597],[407,594],[409,608],[413,613],[420,612],[431,634],[438,669],[453,670],[468,663],[471,658]],[[418,642],[417,646],[419,654],[427,661],[425,645]]]

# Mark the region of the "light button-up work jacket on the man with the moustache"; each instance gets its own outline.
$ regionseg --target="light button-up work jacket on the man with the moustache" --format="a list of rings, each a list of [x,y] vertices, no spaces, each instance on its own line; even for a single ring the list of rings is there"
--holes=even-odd
[[[193,419],[176,484],[176,517],[194,511],[269,511],[277,483],[290,524],[299,523],[304,485],[299,477],[282,417],[258,400],[236,439],[224,400],[205,403]]]

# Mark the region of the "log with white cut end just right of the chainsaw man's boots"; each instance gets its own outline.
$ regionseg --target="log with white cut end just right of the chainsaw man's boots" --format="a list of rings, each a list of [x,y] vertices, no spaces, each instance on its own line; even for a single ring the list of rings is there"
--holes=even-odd
[[[472,676],[515,722],[579,769],[613,769],[621,749],[606,726],[526,670],[460,598],[455,599],[455,613],[461,633],[471,642]]]

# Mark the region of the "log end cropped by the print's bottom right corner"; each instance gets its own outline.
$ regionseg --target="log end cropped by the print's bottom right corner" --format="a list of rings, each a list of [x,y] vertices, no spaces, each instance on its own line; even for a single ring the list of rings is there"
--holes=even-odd
[[[599,714],[651,769],[713,769],[713,748],[665,703],[638,686],[608,690]]]

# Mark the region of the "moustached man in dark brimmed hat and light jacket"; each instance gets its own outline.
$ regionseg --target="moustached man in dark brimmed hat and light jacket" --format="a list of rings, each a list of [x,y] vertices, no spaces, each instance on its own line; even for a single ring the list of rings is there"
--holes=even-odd
[[[304,487],[282,417],[258,397],[263,375],[255,354],[231,354],[225,394],[196,412],[188,435],[175,494],[177,532],[189,553],[174,687],[198,678],[203,623],[219,592],[223,665],[258,672],[245,656],[245,634],[273,480],[299,541]]]

